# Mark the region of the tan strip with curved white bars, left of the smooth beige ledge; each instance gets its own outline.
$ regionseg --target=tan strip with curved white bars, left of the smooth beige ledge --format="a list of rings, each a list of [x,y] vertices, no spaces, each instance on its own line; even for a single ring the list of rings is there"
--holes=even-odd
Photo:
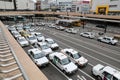
[[[0,29],[0,80],[28,80],[2,29]]]

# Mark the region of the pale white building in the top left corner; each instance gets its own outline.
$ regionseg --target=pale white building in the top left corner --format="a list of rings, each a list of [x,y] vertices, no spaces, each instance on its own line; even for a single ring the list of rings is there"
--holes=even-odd
[[[0,10],[35,10],[32,0],[0,0]]]

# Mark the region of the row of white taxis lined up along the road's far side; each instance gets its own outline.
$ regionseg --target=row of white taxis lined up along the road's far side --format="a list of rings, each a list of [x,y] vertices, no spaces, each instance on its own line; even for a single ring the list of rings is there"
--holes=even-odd
[[[49,24],[48,27],[56,28],[58,30],[66,31],[68,33],[73,33],[73,34],[79,33],[78,30],[76,30],[75,28],[65,28],[63,26],[58,26],[55,24]],[[96,37],[96,33],[94,33],[94,32],[82,32],[79,35],[82,37],[90,38],[90,39],[94,39]],[[100,35],[100,34],[98,33],[98,35]],[[116,45],[118,43],[117,39],[115,39],[114,37],[111,37],[111,36],[107,36],[107,35],[98,37],[97,41],[108,43],[111,45]]]

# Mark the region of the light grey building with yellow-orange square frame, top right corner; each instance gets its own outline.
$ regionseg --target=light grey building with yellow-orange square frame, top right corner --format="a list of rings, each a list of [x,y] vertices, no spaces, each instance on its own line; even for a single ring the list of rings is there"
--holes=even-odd
[[[120,15],[120,0],[92,0],[91,7],[95,14]]]

